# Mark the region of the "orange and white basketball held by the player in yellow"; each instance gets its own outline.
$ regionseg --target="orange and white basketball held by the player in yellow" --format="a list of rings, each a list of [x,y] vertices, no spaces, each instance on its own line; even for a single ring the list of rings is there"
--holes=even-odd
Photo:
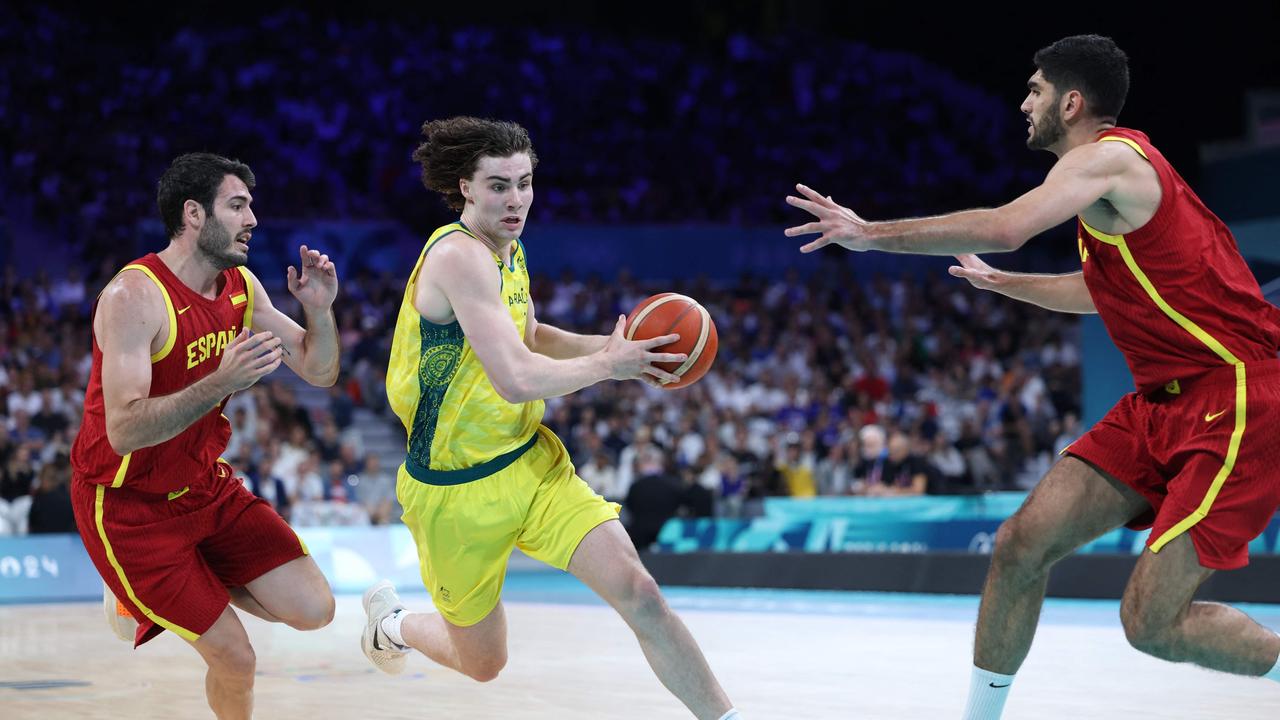
[[[627,315],[627,340],[648,340],[671,333],[678,334],[680,340],[658,346],[654,352],[684,352],[689,359],[684,363],[657,363],[663,370],[680,375],[680,380],[663,386],[663,389],[685,387],[705,375],[719,347],[710,313],[691,297],[663,292],[645,299]]]

